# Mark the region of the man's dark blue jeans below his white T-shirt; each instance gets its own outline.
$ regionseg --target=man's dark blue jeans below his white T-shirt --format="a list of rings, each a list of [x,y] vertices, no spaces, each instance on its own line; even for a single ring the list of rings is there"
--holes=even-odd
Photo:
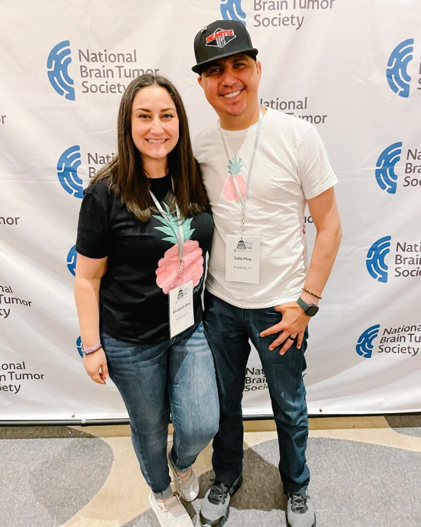
[[[293,344],[285,355],[279,355],[279,347],[269,351],[277,335],[260,337],[260,332],[281,319],[273,307],[242,309],[205,290],[205,334],[214,356],[220,406],[212,464],[216,479],[226,483],[235,481],[243,470],[241,401],[250,339],[260,356],[272,401],[284,492],[298,493],[305,491],[310,479],[305,456],[308,417],[302,375],[308,333],[306,330],[300,349]]]

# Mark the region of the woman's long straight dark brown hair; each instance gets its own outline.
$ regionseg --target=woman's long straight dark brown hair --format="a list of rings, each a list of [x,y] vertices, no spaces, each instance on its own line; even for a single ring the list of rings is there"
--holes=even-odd
[[[108,187],[119,196],[127,209],[141,221],[151,218],[151,209],[155,211],[151,196],[150,183],[142,164],[141,154],[132,139],[132,104],[136,93],[146,86],[161,86],[171,96],[179,121],[179,139],[168,154],[168,169],[174,181],[174,194],[182,216],[186,218],[204,210],[208,198],[202,182],[201,170],[193,157],[192,144],[188,129],[187,114],[183,101],[175,86],[161,75],[141,75],[126,88],[117,120],[116,157],[92,178],[89,184],[108,178]],[[168,206],[174,211],[174,198]]]

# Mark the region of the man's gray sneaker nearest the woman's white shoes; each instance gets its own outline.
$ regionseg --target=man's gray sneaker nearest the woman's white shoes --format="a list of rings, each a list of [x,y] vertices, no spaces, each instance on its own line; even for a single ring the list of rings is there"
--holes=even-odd
[[[243,483],[240,475],[234,483],[223,483],[215,480],[202,500],[199,514],[202,527],[222,527],[228,519],[229,500]]]

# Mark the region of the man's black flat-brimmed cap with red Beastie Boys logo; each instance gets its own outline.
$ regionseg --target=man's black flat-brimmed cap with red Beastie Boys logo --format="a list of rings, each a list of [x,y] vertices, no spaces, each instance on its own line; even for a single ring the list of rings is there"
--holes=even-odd
[[[216,20],[197,33],[194,39],[194,53],[197,64],[192,70],[200,75],[202,70],[217,58],[245,53],[256,60],[258,51],[253,47],[252,39],[241,22]]]

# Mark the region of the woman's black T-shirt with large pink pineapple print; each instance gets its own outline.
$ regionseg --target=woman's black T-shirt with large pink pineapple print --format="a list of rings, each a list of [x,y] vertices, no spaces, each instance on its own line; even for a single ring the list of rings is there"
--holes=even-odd
[[[151,179],[151,190],[166,210],[171,177]],[[176,223],[176,218],[174,218]],[[210,208],[183,222],[184,278],[193,279],[195,323],[202,318],[201,293],[206,252],[214,223]],[[133,343],[169,339],[168,286],[165,278],[178,270],[177,239],[158,212],[139,221],[101,180],[84,192],[76,251],[88,258],[108,257],[101,280],[101,329]]]

